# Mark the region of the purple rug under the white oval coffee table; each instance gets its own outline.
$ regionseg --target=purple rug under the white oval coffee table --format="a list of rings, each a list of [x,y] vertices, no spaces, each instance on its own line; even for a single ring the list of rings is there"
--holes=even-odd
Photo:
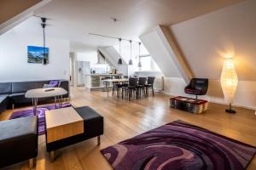
[[[70,107],[70,103],[65,103],[61,105],[61,108]],[[57,105],[57,109],[59,109]],[[44,134],[45,132],[45,111],[54,110],[55,105],[44,105],[38,106],[37,108],[37,115],[38,115],[38,135]],[[23,111],[15,111],[9,119],[15,119],[19,117],[26,117],[26,116],[33,116],[34,112],[33,109],[27,109]]]

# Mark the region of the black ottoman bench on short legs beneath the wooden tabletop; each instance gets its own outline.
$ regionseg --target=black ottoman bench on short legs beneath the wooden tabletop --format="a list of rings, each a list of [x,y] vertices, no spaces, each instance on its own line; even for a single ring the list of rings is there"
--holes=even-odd
[[[65,146],[76,144],[94,137],[97,137],[97,142],[100,144],[100,136],[103,134],[103,117],[89,106],[74,108],[74,110],[77,111],[78,114],[84,119],[84,133],[51,143],[46,142],[46,150],[51,152],[50,155],[52,160],[54,159],[54,150],[61,149]]]

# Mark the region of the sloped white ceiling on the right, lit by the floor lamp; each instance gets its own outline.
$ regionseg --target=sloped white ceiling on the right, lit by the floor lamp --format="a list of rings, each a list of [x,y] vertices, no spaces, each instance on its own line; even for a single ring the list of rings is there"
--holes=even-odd
[[[219,79],[233,55],[239,80],[256,81],[256,1],[247,0],[170,26],[195,77]]]

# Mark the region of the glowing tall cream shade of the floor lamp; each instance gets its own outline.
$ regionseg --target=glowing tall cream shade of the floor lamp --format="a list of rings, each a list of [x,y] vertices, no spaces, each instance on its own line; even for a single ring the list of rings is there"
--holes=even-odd
[[[220,83],[224,93],[225,101],[229,104],[232,103],[238,84],[235,65],[232,59],[224,59],[224,65],[220,76]]]

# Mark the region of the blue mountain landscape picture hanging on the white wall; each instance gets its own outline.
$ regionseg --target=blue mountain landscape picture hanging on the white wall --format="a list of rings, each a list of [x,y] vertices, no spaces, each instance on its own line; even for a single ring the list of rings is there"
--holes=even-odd
[[[49,48],[27,46],[27,63],[42,64],[44,58],[49,63]]]

